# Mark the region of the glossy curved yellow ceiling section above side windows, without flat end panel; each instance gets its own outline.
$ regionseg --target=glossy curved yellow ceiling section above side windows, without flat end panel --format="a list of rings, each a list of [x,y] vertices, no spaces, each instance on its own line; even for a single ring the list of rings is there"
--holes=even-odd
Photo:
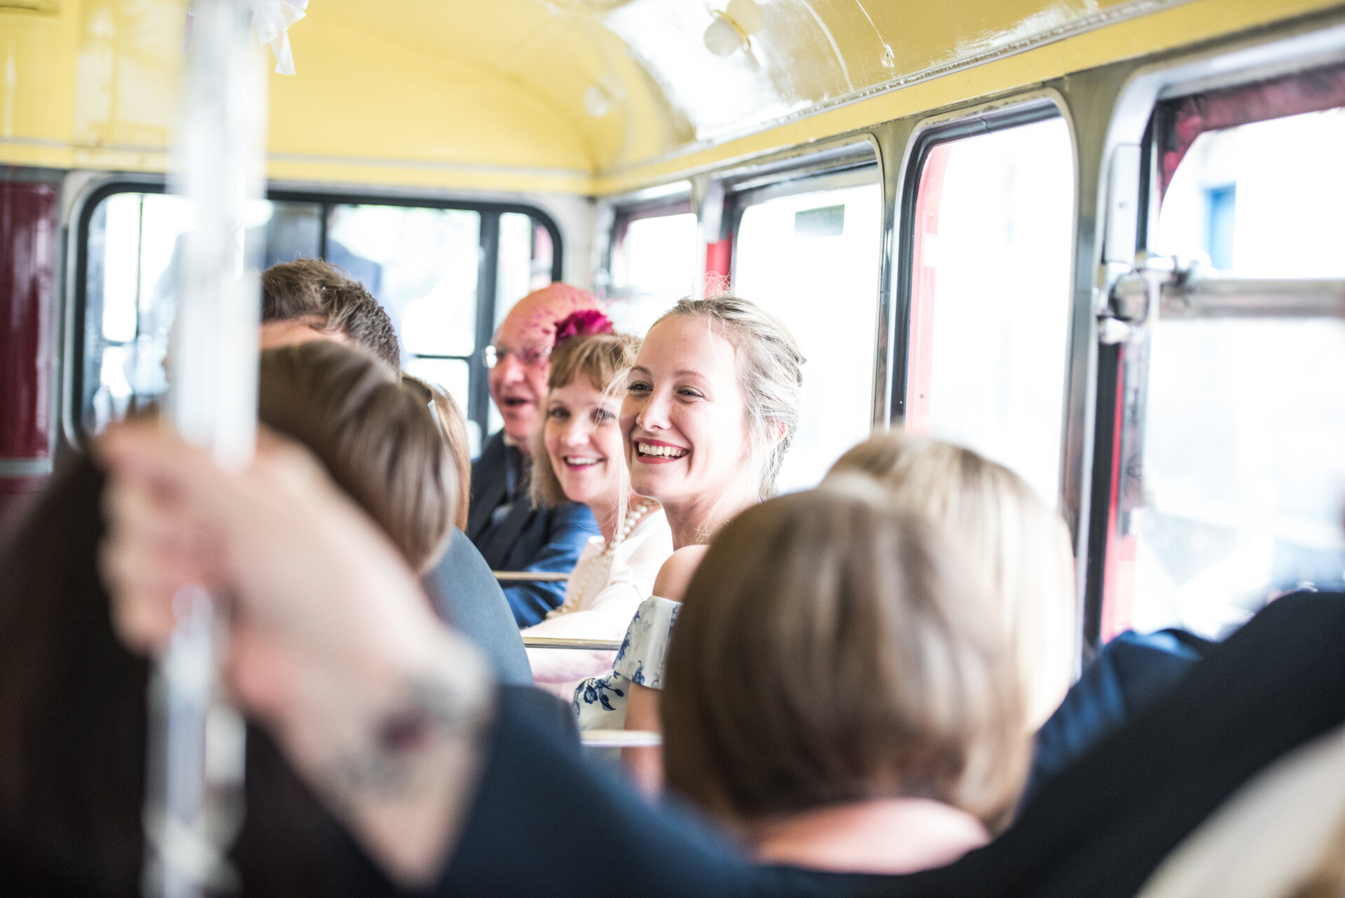
[[[519,86],[604,172],[1177,1],[313,0],[309,20]]]

